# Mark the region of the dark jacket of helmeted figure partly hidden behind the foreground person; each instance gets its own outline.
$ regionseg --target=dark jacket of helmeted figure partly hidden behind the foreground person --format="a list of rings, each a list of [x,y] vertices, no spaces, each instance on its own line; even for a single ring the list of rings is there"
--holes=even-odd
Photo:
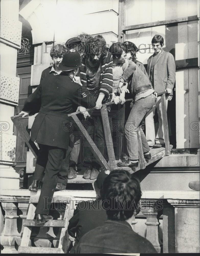
[[[76,233],[76,241],[70,252],[74,252],[76,245],[84,234],[103,225],[106,220],[106,211],[102,208],[100,199],[93,202],[80,202],[74,211],[74,216],[69,220],[67,228],[70,236],[75,237]]]

